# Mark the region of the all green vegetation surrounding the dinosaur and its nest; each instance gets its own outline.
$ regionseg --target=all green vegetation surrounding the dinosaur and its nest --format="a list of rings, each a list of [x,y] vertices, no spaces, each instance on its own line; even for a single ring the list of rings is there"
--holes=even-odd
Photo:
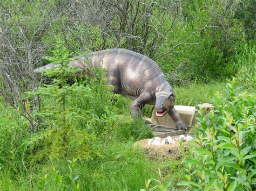
[[[252,0],[0,2],[0,190],[256,189],[255,8]],[[103,70],[80,76],[66,65],[107,48],[155,60],[177,85],[177,105],[214,103],[199,111],[196,148],[181,160],[134,148],[152,133],[130,117],[131,101],[111,93]],[[49,62],[58,67],[32,72]],[[152,107],[142,112],[150,117]]]

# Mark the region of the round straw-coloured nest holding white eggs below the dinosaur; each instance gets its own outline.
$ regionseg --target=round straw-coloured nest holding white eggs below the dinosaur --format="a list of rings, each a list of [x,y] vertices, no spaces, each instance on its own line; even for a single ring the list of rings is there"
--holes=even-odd
[[[143,148],[149,159],[169,158],[172,160],[181,159],[181,155],[189,150],[188,141],[192,140],[191,136],[181,135],[180,137],[143,139],[134,143],[134,146]],[[180,147],[180,142],[182,147]],[[183,149],[183,151],[181,150]]]

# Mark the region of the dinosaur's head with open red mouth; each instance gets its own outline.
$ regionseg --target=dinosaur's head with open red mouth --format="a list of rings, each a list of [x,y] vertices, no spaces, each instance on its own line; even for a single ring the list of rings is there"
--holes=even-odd
[[[159,91],[156,93],[156,105],[154,105],[156,116],[163,117],[168,110],[173,108],[174,101],[175,94],[173,91]]]

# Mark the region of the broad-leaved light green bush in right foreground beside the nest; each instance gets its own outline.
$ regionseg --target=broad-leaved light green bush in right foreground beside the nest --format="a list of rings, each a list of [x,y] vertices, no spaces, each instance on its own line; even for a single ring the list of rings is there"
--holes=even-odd
[[[253,76],[251,76],[252,78]],[[215,111],[199,111],[194,159],[186,159],[187,181],[178,185],[197,190],[256,189],[256,96],[233,78],[218,95]],[[255,82],[251,82],[255,83]]]

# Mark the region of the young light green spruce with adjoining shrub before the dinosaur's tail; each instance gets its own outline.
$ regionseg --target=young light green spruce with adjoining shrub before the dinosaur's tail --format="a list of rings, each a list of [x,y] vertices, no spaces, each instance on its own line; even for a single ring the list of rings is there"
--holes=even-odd
[[[46,59],[59,66],[44,70],[43,74],[57,77],[52,84],[44,84],[28,93],[41,98],[41,109],[33,115],[41,119],[42,124],[41,131],[32,135],[26,146],[33,153],[32,161],[63,156],[92,159],[99,155],[93,144],[97,140],[95,135],[104,138],[107,130],[116,123],[110,88],[104,85],[103,72],[96,73],[91,81],[85,78],[70,85],[68,77],[79,70],[68,66],[73,59],[69,58],[71,54],[63,41],[58,41],[53,53]]]

